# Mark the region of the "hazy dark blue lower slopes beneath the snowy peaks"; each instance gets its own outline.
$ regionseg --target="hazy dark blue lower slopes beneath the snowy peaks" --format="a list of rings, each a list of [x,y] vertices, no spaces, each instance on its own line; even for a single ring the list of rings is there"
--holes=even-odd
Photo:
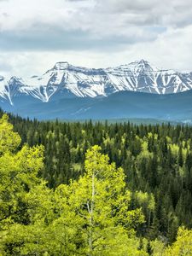
[[[33,102],[20,97],[21,104],[4,110],[37,119],[164,119],[192,123],[192,90],[168,95],[121,91],[108,97],[72,97]]]

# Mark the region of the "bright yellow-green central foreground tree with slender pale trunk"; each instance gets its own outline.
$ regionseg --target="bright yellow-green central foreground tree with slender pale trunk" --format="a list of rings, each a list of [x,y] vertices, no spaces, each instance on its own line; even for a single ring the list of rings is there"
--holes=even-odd
[[[109,164],[108,155],[100,150],[98,146],[88,150],[83,177],[55,190],[57,211],[62,212],[55,222],[60,223],[61,236],[71,234],[64,244],[69,247],[72,241],[76,253],[140,255],[134,230],[143,223],[143,213],[129,210],[131,193],[125,190],[125,174]]]

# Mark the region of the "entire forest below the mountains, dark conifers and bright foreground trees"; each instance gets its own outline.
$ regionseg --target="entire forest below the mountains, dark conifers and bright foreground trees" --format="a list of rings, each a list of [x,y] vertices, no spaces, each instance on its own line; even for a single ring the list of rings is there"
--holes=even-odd
[[[192,126],[0,116],[0,255],[192,255]]]

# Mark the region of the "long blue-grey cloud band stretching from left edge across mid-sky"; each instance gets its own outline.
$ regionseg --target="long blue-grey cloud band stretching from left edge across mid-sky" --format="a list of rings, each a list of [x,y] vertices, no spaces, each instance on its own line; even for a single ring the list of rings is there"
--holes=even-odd
[[[41,24],[31,28],[30,31],[0,32],[0,49],[4,51],[47,51],[47,50],[94,50],[111,51],[124,49],[128,45],[138,42],[151,41],[156,38],[158,28],[146,28],[143,30],[135,27],[129,29],[129,33],[111,35],[106,33],[104,37],[92,34],[89,31],[65,30],[61,27],[46,26]],[[159,28],[162,30],[162,28]]]

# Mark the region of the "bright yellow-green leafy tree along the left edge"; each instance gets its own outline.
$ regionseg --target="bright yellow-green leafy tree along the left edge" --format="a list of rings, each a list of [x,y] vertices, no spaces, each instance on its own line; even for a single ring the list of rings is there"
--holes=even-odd
[[[0,252],[12,255],[15,244],[9,241],[10,230],[30,222],[26,197],[41,183],[37,174],[43,167],[44,148],[25,145],[18,150],[20,137],[7,115],[0,119],[0,138]]]

